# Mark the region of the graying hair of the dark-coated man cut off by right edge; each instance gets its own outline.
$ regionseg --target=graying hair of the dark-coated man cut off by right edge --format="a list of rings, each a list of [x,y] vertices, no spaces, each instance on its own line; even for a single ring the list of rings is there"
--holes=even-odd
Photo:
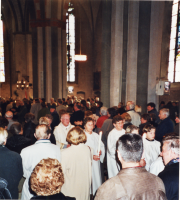
[[[176,155],[179,156],[179,136],[168,135],[163,138],[163,144],[166,142],[168,145],[168,150],[172,150]]]

